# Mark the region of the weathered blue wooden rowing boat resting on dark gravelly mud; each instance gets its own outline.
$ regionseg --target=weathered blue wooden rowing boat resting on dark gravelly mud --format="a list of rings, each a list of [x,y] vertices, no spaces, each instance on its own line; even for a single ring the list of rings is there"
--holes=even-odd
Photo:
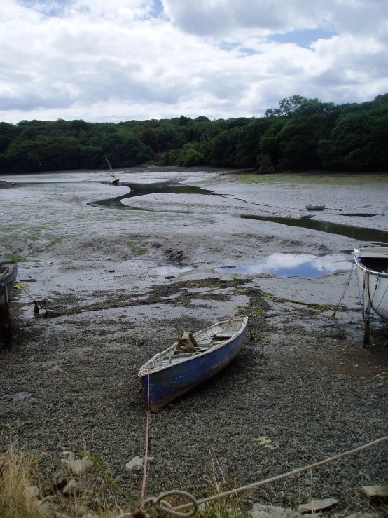
[[[211,378],[240,352],[248,317],[221,320],[194,334],[183,333],[179,341],[148,360],[139,377],[150,407],[158,411],[176,397]]]

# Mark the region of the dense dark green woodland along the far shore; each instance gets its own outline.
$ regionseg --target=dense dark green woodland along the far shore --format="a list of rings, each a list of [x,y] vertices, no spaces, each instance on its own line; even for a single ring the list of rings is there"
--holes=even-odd
[[[388,169],[388,93],[340,104],[293,95],[261,118],[0,123],[0,173],[159,165]]]

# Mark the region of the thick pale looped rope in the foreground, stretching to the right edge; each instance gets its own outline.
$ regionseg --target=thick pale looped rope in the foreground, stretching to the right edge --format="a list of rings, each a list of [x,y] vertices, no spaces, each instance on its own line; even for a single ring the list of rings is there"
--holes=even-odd
[[[259,486],[264,486],[265,484],[270,484],[271,482],[277,482],[278,480],[285,479],[286,477],[292,477],[293,475],[298,475],[298,473],[301,473],[303,471],[312,470],[313,468],[318,468],[319,466],[322,466],[324,464],[331,463],[333,461],[338,461],[339,458],[346,457],[353,454],[358,454],[359,451],[363,451],[364,449],[371,448],[375,446],[376,444],[380,444],[380,442],[384,442],[388,440],[388,435],[385,437],[381,437],[380,439],[376,439],[375,441],[368,442],[368,444],[363,444],[363,446],[359,446],[358,448],[354,448],[349,451],[345,451],[343,454],[335,455],[330,458],[326,458],[324,461],[319,461],[314,464],[310,464],[308,466],[305,466],[304,468],[298,468],[297,470],[289,471],[288,473],[284,473],[283,475],[277,475],[277,477],[272,477],[270,479],[262,480],[261,482],[254,482],[254,484],[248,484],[247,486],[242,486],[237,489],[231,489],[230,491],[225,491],[223,493],[219,493],[214,496],[209,496],[208,498],[203,498],[202,500],[195,500],[195,497],[190,495],[190,493],[186,493],[186,491],[167,491],[166,493],[160,493],[160,495],[156,498],[148,498],[144,504],[151,505],[151,507],[155,507],[156,505],[162,503],[162,507],[160,507],[163,511],[168,512],[169,514],[173,514],[174,516],[178,517],[191,517],[194,516],[195,513],[198,511],[198,507],[201,504],[211,502],[212,500],[217,500],[218,498],[225,498],[226,496],[231,495],[237,495],[237,493],[240,493],[241,491],[247,491],[248,489],[254,489]],[[166,496],[172,496],[172,495],[179,495],[179,496],[186,496],[189,500],[191,500],[190,503],[186,503],[183,505],[179,505],[178,507],[172,508],[169,503],[165,502],[165,500],[162,500]],[[188,507],[191,507],[193,505],[193,510],[190,512],[179,512],[183,509],[187,509]],[[145,514],[145,516],[147,516]]]

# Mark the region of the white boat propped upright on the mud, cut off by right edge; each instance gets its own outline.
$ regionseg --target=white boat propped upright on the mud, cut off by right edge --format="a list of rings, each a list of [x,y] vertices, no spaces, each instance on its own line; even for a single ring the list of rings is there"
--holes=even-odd
[[[367,345],[370,314],[374,312],[381,320],[388,322],[388,248],[355,248],[352,254],[365,324],[363,343]]]

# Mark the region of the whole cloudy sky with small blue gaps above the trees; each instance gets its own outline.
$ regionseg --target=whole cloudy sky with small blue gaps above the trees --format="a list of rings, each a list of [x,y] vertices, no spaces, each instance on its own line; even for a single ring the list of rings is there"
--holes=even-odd
[[[388,92],[387,0],[0,0],[0,121],[263,116]]]

